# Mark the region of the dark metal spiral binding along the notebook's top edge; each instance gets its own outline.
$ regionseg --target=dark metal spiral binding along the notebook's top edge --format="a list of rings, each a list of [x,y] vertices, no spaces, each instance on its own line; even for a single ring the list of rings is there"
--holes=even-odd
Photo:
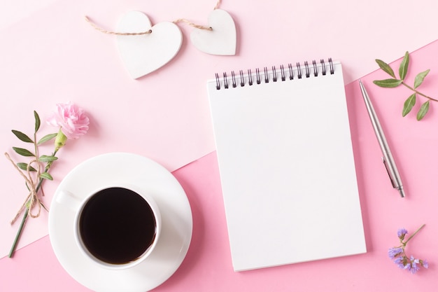
[[[329,64],[328,72],[330,72],[330,74],[334,74],[334,65],[332,58],[328,59],[328,64]],[[323,59],[320,60],[320,65],[321,65],[320,72],[318,71],[319,68],[318,63],[315,60],[312,61],[311,65],[309,65],[309,62],[304,62],[304,70],[302,69],[302,65],[299,64],[299,62],[297,62],[295,67],[293,67],[292,64],[288,64],[287,69],[285,69],[283,65],[280,65],[281,79],[278,79],[277,70],[275,66],[272,66],[271,70],[269,70],[267,67],[264,67],[262,74],[260,73],[260,69],[256,68],[255,76],[253,76],[250,69],[248,69],[247,74],[244,74],[242,70],[239,70],[239,75],[237,77],[234,71],[231,71],[231,80],[229,80],[229,78],[227,77],[227,73],[224,72],[222,74],[222,78],[223,78],[222,85],[223,88],[227,89],[229,88],[229,82],[231,82],[232,87],[236,88],[238,85],[237,79],[239,79],[239,85],[241,87],[245,86],[246,84],[253,85],[253,77],[255,77],[255,83],[260,84],[262,83],[262,81],[264,81],[264,83],[269,83],[269,81],[277,82],[279,80],[286,81],[286,79],[293,80],[295,77],[301,79],[301,78],[310,78],[311,75],[315,77],[317,77],[319,74],[326,75],[327,68],[325,61]],[[311,74],[311,71],[313,71],[313,74]],[[215,74],[215,76],[216,76],[216,89],[220,90],[222,88],[220,82],[220,76],[217,73]],[[271,76],[272,78],[270,79],[269,76]]]

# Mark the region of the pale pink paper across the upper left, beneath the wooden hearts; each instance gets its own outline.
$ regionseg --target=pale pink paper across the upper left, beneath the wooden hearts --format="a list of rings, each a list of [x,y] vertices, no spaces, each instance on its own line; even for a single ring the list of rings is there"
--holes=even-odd
[[[0,30],[3,151],[18,146],[10,130],[31,132],[33,110],[44,118],[55,103],[71,100],[90,114],[87,136],[59,153],[60,161],[53,168],[55,181],[45,187],[47,204],[62,177],[94,155],[134,152],[174,170],[214,151],[205,84],[216,72],[332,57],[344,64],[345,80],[350,83],[377,68],[374,58],[395,60],[405,50],[437,39],[438,3],[433,0],[416,5],[402,0],[396,7],[377,0],[366,4],[224,1],[220,8],[236,22],[235,57],[199,52],[188,38],[192,27],[181,24],[183,46],[176,58],[134,81],[120,61],[115,38],[95,31],[84,20],[88,15],[98,25],[115,29],[122,13],[139,10],[153,23],[183,17],[203,24],[215,4],[196,0],[166,5],[139,0],[111,5],[103,0],[55,1],[43,9],[42,4],[29,8],[37,12],[29,17],[24,13]],[[7,7],[1,15],[10,13]],[[412,15],[418,15],[421,22],[409,22]],[[41,131],[55,132],[48,127]],[[26,195],[22,180],[8,163],[0,160],[0,256],[8,253],[17,230],[8,221]],[[45,212],[28,222],[19,247],[44,235]]]

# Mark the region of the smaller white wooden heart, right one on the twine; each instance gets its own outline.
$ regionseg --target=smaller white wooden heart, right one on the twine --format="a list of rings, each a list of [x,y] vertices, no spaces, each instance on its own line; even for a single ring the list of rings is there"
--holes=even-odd
[[[206,29],[194,29],[190,34],[193,45],[211,55],[236,55],[236,26],[234,20],[222,9],[215,9],[209,15]]]

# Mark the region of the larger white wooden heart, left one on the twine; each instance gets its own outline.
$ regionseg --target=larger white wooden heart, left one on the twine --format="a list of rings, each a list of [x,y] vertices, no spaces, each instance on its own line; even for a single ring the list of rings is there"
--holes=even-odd
[[[151,27],[148,16],[139,11],[123,15],[118,32],[146,32],[136,36],[117,36],[120,57],[132,78],[140,78],[164,66],[181,48],[183,35],[173,22],[159,22]]]

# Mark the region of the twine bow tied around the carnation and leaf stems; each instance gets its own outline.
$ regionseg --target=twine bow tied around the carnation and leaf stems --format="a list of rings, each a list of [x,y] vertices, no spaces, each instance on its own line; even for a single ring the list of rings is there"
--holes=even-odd
[[[29,188],[29,194],[27,195],[26,200],[24,200],[22,206],[17,211],[17,214],[15,214],[15,217],[12,219],[12,221],[10,221],[10,224],[12,225],[13,223],[15,223],[15,221],[17,221],[18,216],[20,216],[23,209],[26,207],[29,209],[29,215],[32,218],[36,218],[36,217],[40,216],[40,214],[41,214],[41,201],[37,195],[37,193],[38,193],[38,190],[36,189],[37,182],[34,181],[34,179],[32,178],[30,169],[31,169],[31,165],[36,163],[36,165],[37,165],[36,177],[38,178],[39,175],[41,174],[41,166],[39,165],[38,161],[36,159],[34,159],[31,162],[29,162],[29,164],[27,165],[27,173],[24,174],[24,172],[22,172],[22,170],[17,166],[17,164],[12,160],[12,158],[10,158],[8,153],[5,153],[5,156],[12,163],[14,168],[17,169],[17,172],[20,173],[20,175],[23,177],[24,181],[26,181],[27,187]],[[32,213],[35,206],[38,207],[36,214]]]

